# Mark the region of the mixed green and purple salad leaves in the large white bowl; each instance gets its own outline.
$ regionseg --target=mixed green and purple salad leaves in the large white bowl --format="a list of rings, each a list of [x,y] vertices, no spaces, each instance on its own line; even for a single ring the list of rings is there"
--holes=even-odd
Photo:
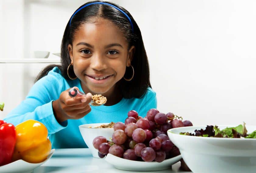
[[[207,127],[200,130],[195,130],[195,133],[181,132],[180,135],[201,136],[201,137],[215,137],[215,138],[256,138],[256,130],[251,134],[247,134],[245,123],[237,127],[224,128],[220,130],[218,126],[207,125]]]

